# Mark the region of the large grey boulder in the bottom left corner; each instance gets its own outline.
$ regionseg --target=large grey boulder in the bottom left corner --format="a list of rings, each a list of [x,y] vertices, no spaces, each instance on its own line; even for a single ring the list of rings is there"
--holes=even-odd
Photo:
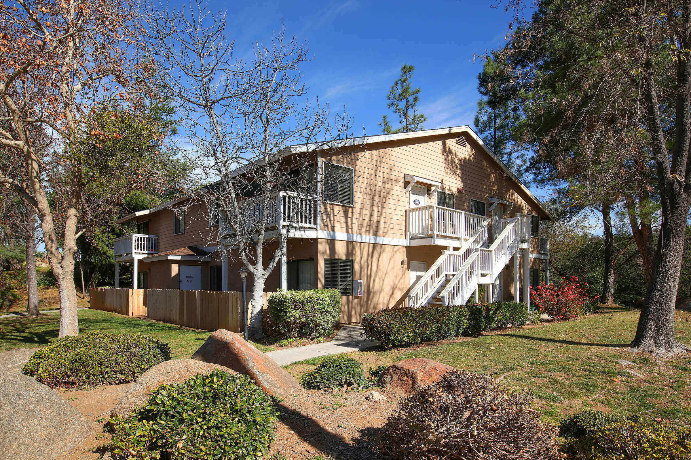
[[[0,458],[55,460],[91,434],[88,419],[32,377],[0,366]]]

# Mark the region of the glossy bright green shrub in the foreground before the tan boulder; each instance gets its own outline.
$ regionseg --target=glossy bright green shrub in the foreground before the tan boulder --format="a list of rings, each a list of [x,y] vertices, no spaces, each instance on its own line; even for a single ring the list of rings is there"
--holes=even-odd
[[[131,417],[113,417],[113,457],[263,459],[277,414],[272,398],[249,377],[216,369],[162,385]]]

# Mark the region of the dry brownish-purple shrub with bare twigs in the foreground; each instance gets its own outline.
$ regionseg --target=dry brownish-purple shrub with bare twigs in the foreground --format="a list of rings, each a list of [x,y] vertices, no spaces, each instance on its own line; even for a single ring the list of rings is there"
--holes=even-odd
[[[540,422],[532,399],[503,392],[487,375],[454,370],[401,399],[379,446],[394,459],[558,459],[556,428]]]

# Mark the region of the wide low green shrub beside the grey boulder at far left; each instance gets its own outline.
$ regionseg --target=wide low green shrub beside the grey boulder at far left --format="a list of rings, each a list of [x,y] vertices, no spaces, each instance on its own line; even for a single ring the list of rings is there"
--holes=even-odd
[[[144,334],[89,332],[37,350],[21,372],[53,388],[85,388],[135,381],[170,358],[167,343]]]

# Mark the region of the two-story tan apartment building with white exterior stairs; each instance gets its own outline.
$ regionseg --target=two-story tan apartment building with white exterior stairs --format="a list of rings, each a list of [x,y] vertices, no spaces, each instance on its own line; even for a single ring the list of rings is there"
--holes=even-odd
[[[357,157],[316,152],[318,174],[347,180],[299,198],[307,211],[267,292],[337,288],[341,321],[353,322],[392,306],[465,302],[478,286],[489,301],[529,300],[530,284],[546,278],[549,243],[538,238],[538,226],[549,212],[471,128],[346,143],[366,148]],[[240,290],[239,261],[205,243],[213,226],[194,217],[194,205],[181,215],[170,206],[119,220],[138,230],[115,241],[116,272],[129,261],[135,287]]]

